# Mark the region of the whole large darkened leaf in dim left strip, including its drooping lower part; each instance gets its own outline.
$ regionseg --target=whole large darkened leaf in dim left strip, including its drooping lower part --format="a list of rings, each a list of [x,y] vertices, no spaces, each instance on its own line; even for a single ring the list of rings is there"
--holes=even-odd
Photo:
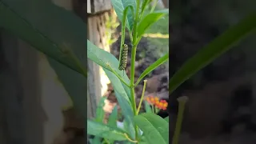
[[[2,0],[0,19],[0,27],[48,56],[75,108],[86,118],[85,23],[70,11],[39,0]],[[75,57],[63,53],[63,47]]]

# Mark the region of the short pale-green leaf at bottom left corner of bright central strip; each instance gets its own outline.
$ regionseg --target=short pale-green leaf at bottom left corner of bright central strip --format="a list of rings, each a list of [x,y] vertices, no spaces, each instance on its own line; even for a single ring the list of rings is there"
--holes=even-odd
[[[124,133],[125,132],[123,132],[121,129],[106,126],[102,123],[87,119],[87,134],[122,141],[126,140]]]

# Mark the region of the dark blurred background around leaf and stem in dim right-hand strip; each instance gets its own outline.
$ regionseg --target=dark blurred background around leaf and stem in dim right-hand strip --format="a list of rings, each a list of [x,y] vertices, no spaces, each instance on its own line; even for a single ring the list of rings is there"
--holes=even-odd
[[[255,4],[250,0],[170,1],[170,75],[202,46],[255,10]],[[255,38],[251,35],[234,46],[170,95],[173,129],[176,98],[190,98],[180,144],[256,142]]]

